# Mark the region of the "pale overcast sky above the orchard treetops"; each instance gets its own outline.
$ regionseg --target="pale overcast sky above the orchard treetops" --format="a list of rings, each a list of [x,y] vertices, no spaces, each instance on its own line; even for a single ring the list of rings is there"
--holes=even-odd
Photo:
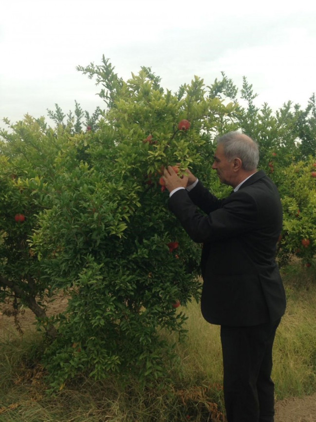
[[[306,106],[316,92],[316,2],[176,0],[2,0],[0,119],[47,116],[74,100],[105,104],[77,65],[110,58],[127,79],[151,67],[176,91],[194,75],[206,85],[225,72],[274,110]],[[0,122],[0,127],[4,124]]]

